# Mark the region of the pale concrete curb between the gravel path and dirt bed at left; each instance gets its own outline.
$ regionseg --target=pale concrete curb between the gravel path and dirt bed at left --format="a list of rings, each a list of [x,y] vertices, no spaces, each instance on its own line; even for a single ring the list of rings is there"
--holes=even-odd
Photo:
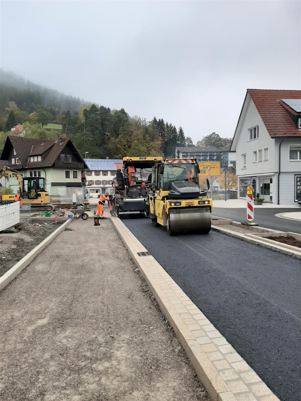
[[[29,263],[31,263],[31,261],[37,255],[39,255],[39,253],[43,251],[43,249],[47,247],[47,245],[51,243],[51,241],[55,239],[55,237],[59,233],[61,233],[61,231],[65,230],[65,228],[71,221],[72,219],[69,219],[65,223],[63,223],[60,227],[58,227],[55,231],[53,231],[47,238],[45,238],[44,241],[39,243],[39,245],[33,248],[29,253],[27,253],[26,256],[24,256],[20,261],[18,261],[18,263],[16,263],[13,267],[11,267],[8,271],[6,271],[6,273],[4,273],[4,275],[0,277],[0,291],[2,291],[14,278],[16,278],[16,276],[23,269],[25,269],[25,267],[28,266]]]

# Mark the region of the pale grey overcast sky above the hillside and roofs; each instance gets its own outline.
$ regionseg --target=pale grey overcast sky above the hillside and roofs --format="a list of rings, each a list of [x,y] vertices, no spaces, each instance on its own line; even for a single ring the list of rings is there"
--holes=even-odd
[[[300,1],[1,1],[1,67],[232,137],[247,88],[300,88]]]

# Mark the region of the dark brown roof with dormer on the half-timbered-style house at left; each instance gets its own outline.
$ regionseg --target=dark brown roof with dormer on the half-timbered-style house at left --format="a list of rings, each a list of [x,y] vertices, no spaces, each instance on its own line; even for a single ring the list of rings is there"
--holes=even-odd
[[[43,139],[8,136],[4,144],[1,159],[4,159],[6,156],[8,156],[9,146],[10,146],[9,142],[16,150],[16,154],[18,155],[23,168],[53,166],[53,164],[59,157],[59,154],[65,148],[67,143],[69,143],[71,147],[74,148],[74,151],[77,152],[79,159],[84,164],[85,168],[87,168],[85,161],[83,160],[78,150],[75,148],[75,146],[69,139],[48,141]],[[41,162],[30,162],[29,155],[33,156],[37,154],[43,155],[42,157],[43,160],[41,160]]]

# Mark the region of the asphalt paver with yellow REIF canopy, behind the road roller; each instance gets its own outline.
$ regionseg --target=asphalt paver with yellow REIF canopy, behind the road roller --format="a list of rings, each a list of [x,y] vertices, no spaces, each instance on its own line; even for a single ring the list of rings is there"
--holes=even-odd
[[[124,157],[123,168],[116,171],[114,182],[114,213],[122,215],[143,214],[146,210],[148,186],[152,168],[162,157]]]

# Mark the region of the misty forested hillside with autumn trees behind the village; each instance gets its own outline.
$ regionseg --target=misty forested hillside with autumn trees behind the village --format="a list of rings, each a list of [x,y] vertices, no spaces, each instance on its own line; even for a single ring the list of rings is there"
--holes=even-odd
[[[0,150],[16,124],[23,125],[25,137],[54,140],[57,132],[45,129],[49,123],[61,124],[59,135],[70,138],[82,156],[89,152],[89,158],[174,157],[176,146],[193,145],[182,127],[162,118],[130,117],[124,109],[111,110],[1,71]]]

